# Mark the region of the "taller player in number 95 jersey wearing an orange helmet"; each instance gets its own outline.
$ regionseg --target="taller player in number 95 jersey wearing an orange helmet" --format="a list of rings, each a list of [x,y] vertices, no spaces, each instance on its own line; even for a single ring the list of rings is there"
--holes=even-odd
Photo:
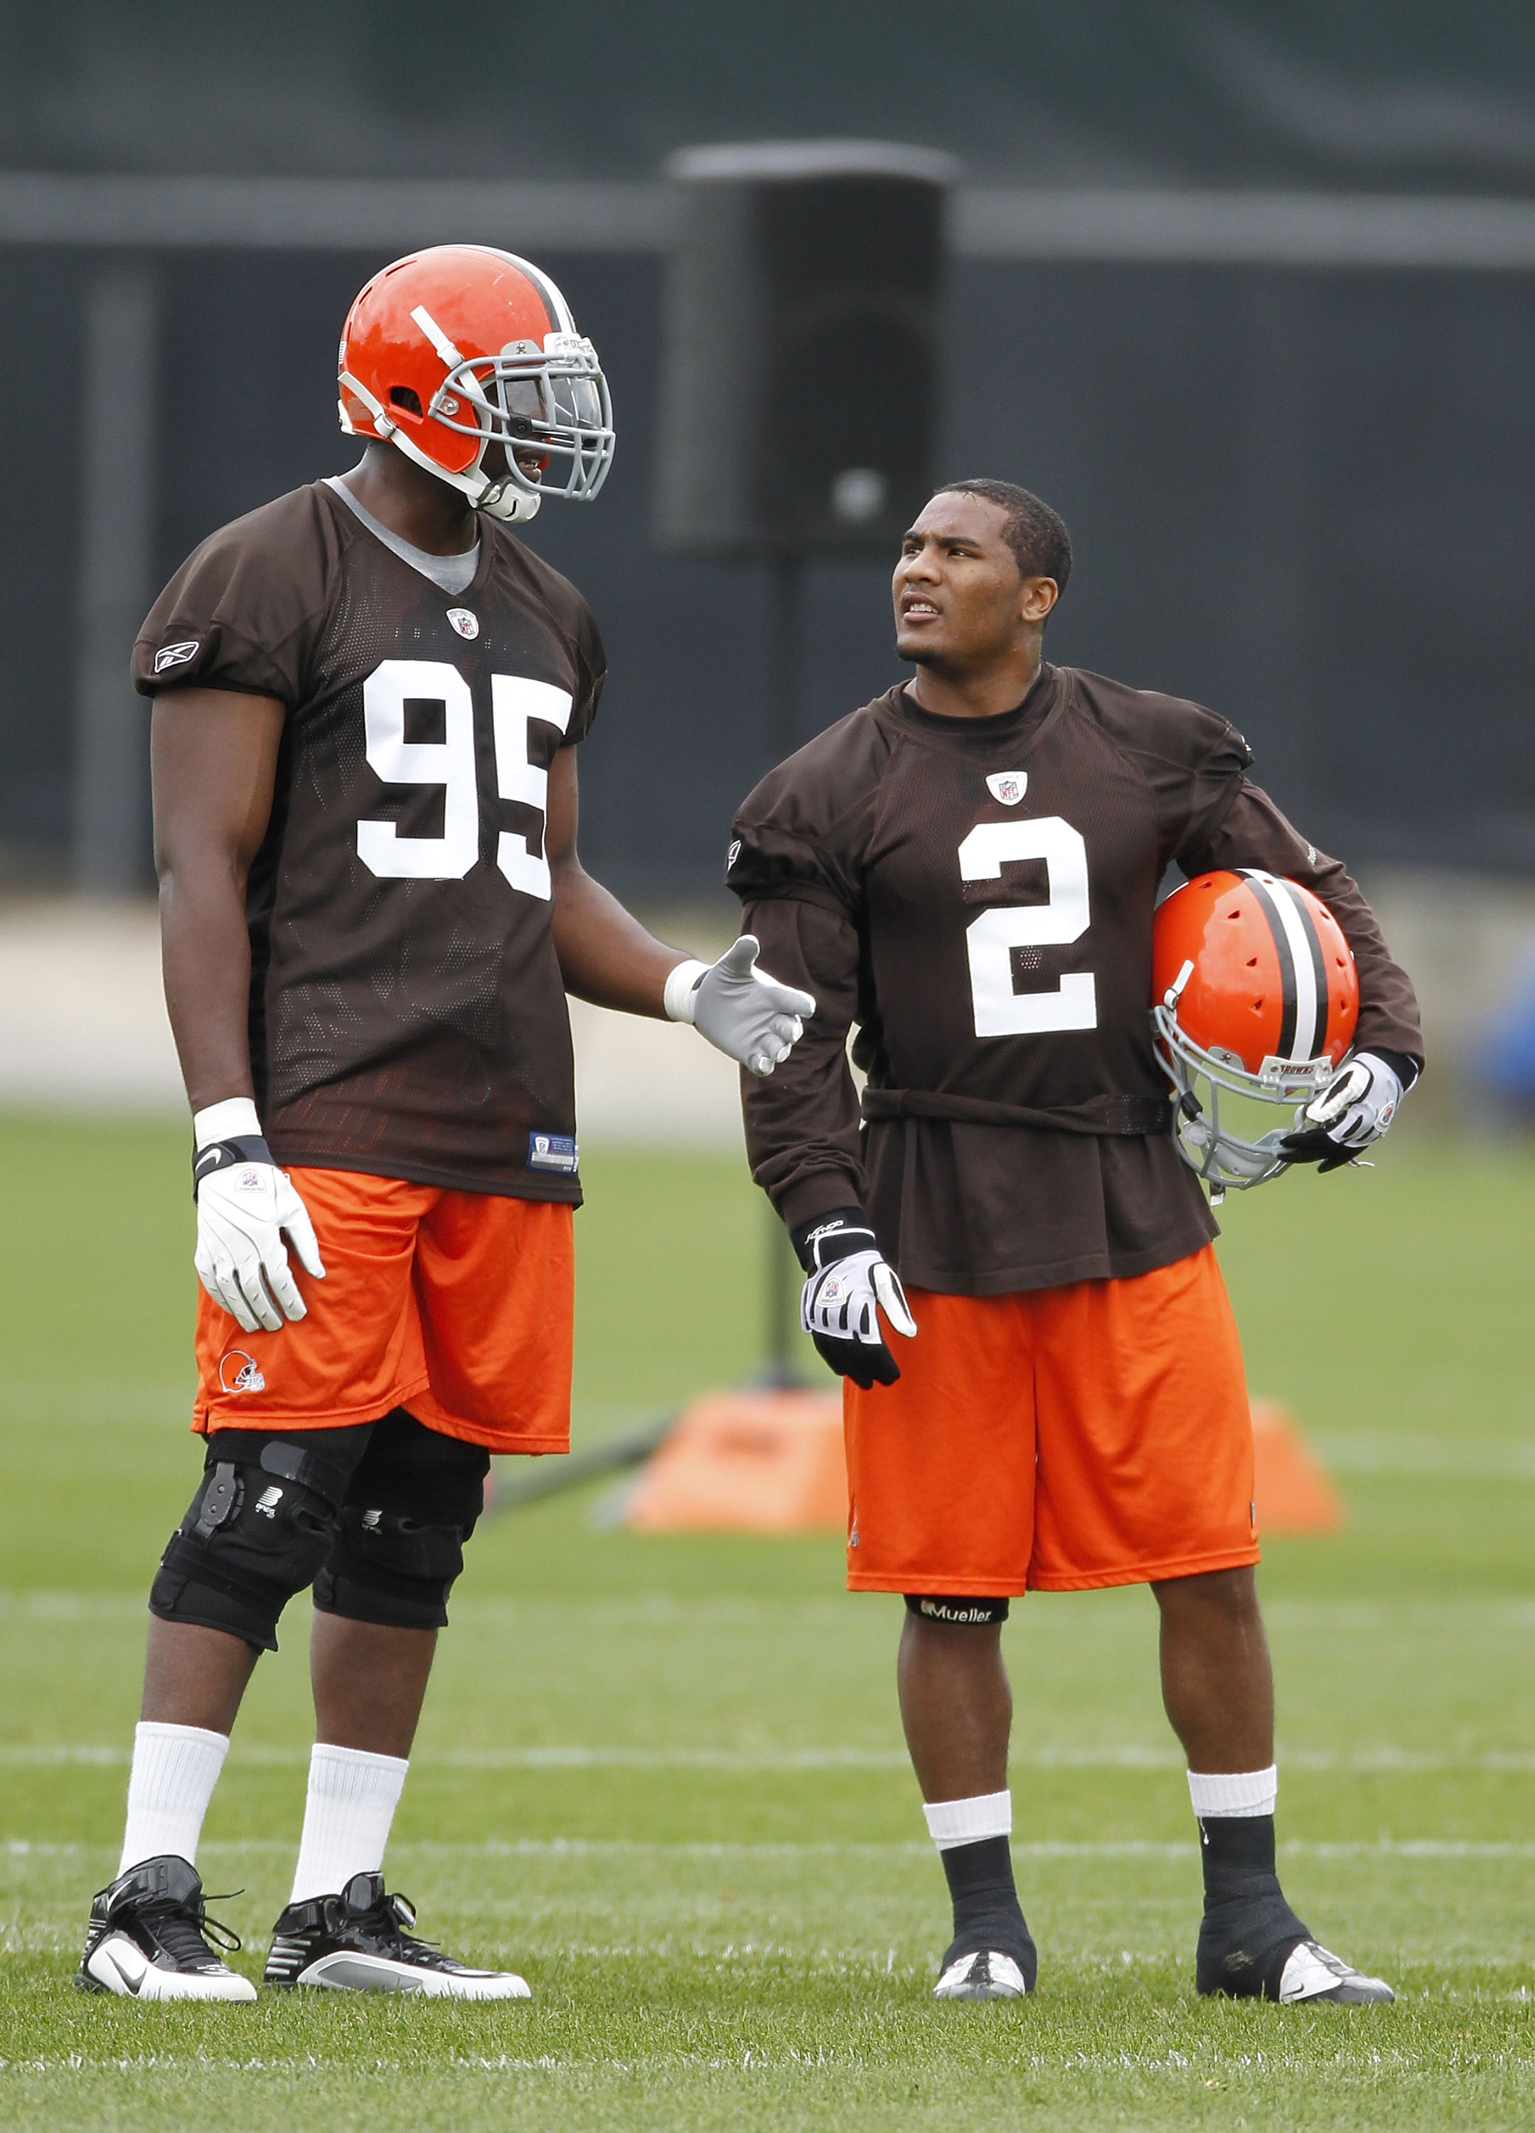
[[[418,1939],[382,1862],[490,1453],[569,1444],[565,994],[691,1022],[753,1073],[814,1005],[750,939],[665,947],[580,864],[601,638],[507,525],[612,465],[554,282],[488,245],[394,260],[348,314],[339,395],[362,461],[205,540],[134,651],[207,1438],[79,1971],[136,1999],[254,1996],[209,1945],[196,1845],[309,1585],[318,1745],[266,1984],[527,1992]]]

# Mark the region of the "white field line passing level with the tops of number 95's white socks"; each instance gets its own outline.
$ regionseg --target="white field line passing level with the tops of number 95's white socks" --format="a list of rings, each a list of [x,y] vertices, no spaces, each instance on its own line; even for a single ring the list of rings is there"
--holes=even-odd
[[[107,1743],[0,1743],[0,1766],[6,1768],[64,1768],[102,1766],[126,1768],[128,1745]],[[309,1766],[307,1747],[241,1747],[232,1751],[232,1764],[256,1764],[260,1768],[301,1770]],[[486,1747],[486,1749],[443,1749],[433,1753],[422,1749],[411,1755],[418,1770],[727,1770],[727,1773],[785,1773],[797,1770],[904,1770],[906,1749],[900,1747],[806,1747],[806,1749],[725,1749],[725,1747]],[[1015,1768],[1028,1770],[1181,1770],[1183,1758],[1175,1747],[1121,1745],[1121,1747],[1072,1747],[1040,1745],[1017,1747],[1011,1753]],[[1354,1777],[1392,1777],[1433,1770],[1490,1770],[1526,1773],[1535,1770],[1535,1749],[1486,1749],[1475,1755],[1443,1755],[1405,1747],[1373,1747],[1339,1753],[1335,1749],[1281,1749],[1279,1764],[1288,1770],[1347,1770]]]

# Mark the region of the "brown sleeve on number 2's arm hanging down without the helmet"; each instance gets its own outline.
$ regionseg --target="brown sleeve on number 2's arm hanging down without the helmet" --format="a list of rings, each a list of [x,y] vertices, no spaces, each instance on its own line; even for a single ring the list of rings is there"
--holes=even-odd
[[[789,1229],[863,1201],[859,1103],[846,1060],[857,1011],[857,928],[823,902],[770,896],[746,904],[761,966],[814,994],[817,1011],[768,1079],[742,1073],[746,1156]]]

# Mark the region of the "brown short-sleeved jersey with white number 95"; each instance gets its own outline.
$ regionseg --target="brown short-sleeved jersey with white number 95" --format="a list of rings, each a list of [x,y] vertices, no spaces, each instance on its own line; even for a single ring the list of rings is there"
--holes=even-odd
[[[288,708],[247,892],[277,1160],[580,1201],[544,855],[548,768],[603,683],[580,593],[484,516],[443,593],[313,482],[196,548],[134,683]]]

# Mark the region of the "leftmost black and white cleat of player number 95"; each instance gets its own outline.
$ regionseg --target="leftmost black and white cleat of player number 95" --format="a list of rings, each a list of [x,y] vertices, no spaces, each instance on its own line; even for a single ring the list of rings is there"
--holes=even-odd
[[[196,1866],[166,1851],[130,1866],[92,1898],[75,1984],[81,1992],[126,1999],[254,2001],[249,1977],[220,1956],[232,1947],[239,1935],[207,1915]]]

